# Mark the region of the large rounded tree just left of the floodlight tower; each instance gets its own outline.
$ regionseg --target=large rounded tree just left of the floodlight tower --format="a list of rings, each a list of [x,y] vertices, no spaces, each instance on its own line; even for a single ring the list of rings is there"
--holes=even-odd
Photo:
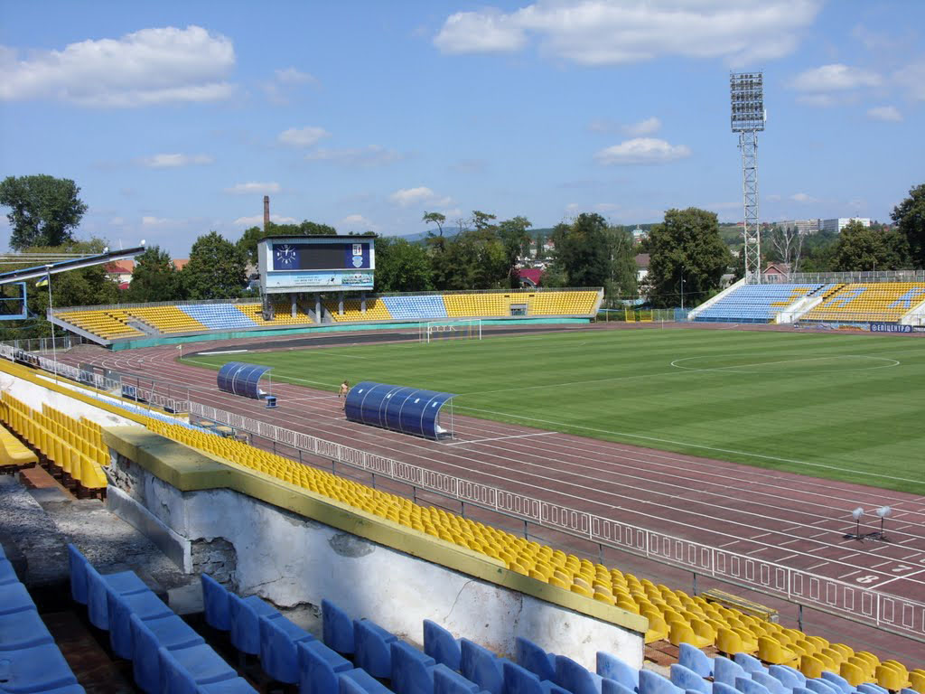
[[[699,304],[720,288],[732,264],[716,214],[697,207],[668,210],[651,229],[649,248],[648,295],[660,307],[681,304],[682,293],[688,305]]]

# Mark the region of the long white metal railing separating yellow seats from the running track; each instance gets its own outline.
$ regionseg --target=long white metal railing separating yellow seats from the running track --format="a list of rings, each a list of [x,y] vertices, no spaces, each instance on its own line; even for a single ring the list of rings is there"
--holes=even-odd
[[[0,356],[12,359],[13,349],[0,344]],[[38,357],[38,364],[44,370],[74,380],[80,380],[81,375],[87,374],[75,366],[54,362],[42,356]],[[98,374],[93,376],[94,383],[103,386],[118,383],[121,386],[121,381],[111,381]],[[151,403],[170,402],[169,398],[165,398],[165,393],[156,387],[150,390],[142,388],[139,394]],[[801,607],[833,613],[925,642],[925,603],[866,588],[863,583],[864,578],[870,582],[879,580],[879,575],[889,576],[886,580],[902,576],[870,569],[858,579],[857,584],[852,584],[277,427],[253,417],[193,402],[189,393],[184,402],[175,399],[171,405],[174,411],[189,412],[282,444],[297,452],[350,465],[373,475],[411,485],[415,489],[432,491],[462,503],[590,540],[601,547],[628,551],[660,564],[684,568],[696,576],[707,576],[746,589],[760,589]]]

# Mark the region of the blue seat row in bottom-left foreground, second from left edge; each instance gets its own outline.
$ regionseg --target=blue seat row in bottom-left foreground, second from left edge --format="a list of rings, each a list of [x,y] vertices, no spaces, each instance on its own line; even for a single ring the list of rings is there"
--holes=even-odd
[[[238,672],[131,571],[100,574],[68,545],[71,597],[109,633],[113,655],[130,660],[145,694],[255,694]]]

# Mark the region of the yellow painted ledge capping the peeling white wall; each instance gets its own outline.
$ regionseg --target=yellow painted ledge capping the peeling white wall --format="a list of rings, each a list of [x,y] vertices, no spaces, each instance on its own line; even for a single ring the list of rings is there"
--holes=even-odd
[[[522,592],[576,613],[645,634],[648,619],[603,602],[550,586],[511,571],[499,559],[367,514],[349,504],[304,490],[277,477],[196,451],[144,427],[109,427],[103,440],[111,449],[181,491],[228,489],[394,550],[446,566],[488,583]]]

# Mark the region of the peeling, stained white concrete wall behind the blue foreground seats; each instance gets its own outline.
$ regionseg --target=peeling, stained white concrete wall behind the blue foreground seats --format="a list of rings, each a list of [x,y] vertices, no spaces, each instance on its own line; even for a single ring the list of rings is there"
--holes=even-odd
[[[180,491],[122,456],[110,466],[110,477],[107,503],[115,513],[149,536],[161,533],[159,544],[182,546],[168,555],[182,555],[187,570],[211,566],[210,573],[227,574],[241,594],[280,606],[320,605],[327,598],[352,617],[372,619],[418,644],[422,621],[432,619],[499,653],[511,655],[514,638],[524,636],[592,671],[597,651],[642,666],[642,634],[593,616],[237,491]]]

